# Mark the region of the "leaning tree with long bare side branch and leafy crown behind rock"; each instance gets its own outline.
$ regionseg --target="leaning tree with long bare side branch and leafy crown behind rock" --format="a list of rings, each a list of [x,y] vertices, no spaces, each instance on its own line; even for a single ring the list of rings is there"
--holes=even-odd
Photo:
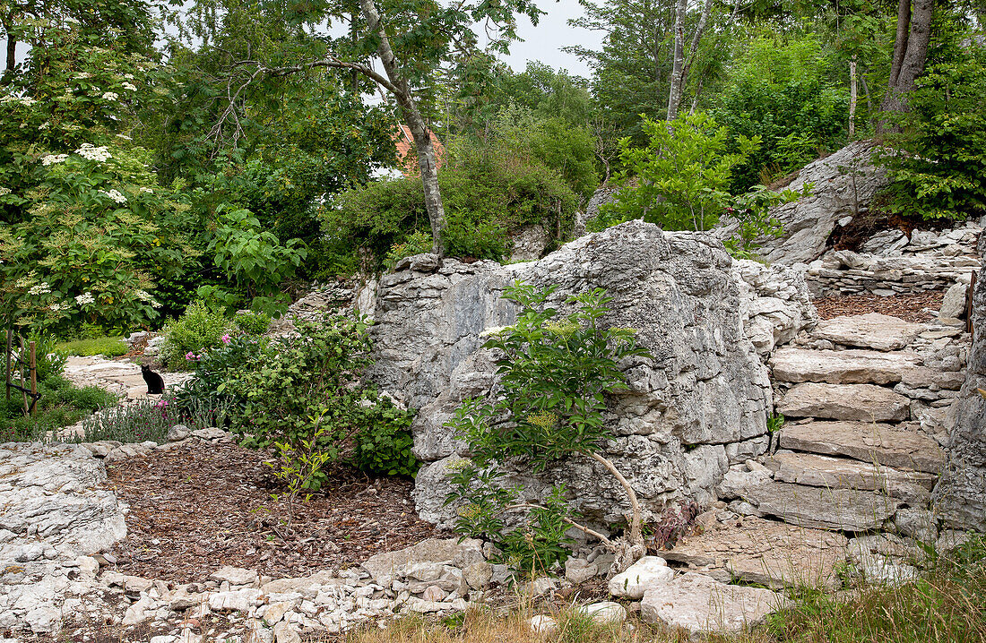
[[[222,8],[229,0],[198,0],[196,16],[207,16]],[[220,4],[217,4],[220,3]],[[442,253],[442,232],[445,210],[438,185],[438,166],[432,146],[431,128],[426,110],[434,90],[436,69],[465,64],[480,53],[472,25],[480,23],[489,36],[487,47],[506,52],[509,43],[517,38],[517,17],[527,16],[536,24],[540,12],[528,0],[505,0],[490,3],[469,0],[445,6],[438,0],[396,0],[378,4],[374,0],[359,0],[362,22],[354,26],[351,19],[352,2],[327,0],[307,8],[312,15],[299,23],[303,32],[317,42],[327,43],[317,54],[312,49],[300,52],[294,60],[284,58],[265,60],[246,56],[236,61],[229,74],[229,104],[223,117],[235,116],[236,103],[250,84],[264,78],[304,74],[317,68],[356,72],[375,83],[393,98],[404,123],[414,139],[421,168],[421,183],[428,217],[434,236],[434,251]],[[342,23],[346,35],[333,37],[331,27]],[[326,31],[326,27],[328,30]],[[354,29],[358,28],[358,29]],[[353,37],[353,35],[356,37]],[[374,62],[379,61],[383,73]],[[289,64],[285,64],[289,63]]]

